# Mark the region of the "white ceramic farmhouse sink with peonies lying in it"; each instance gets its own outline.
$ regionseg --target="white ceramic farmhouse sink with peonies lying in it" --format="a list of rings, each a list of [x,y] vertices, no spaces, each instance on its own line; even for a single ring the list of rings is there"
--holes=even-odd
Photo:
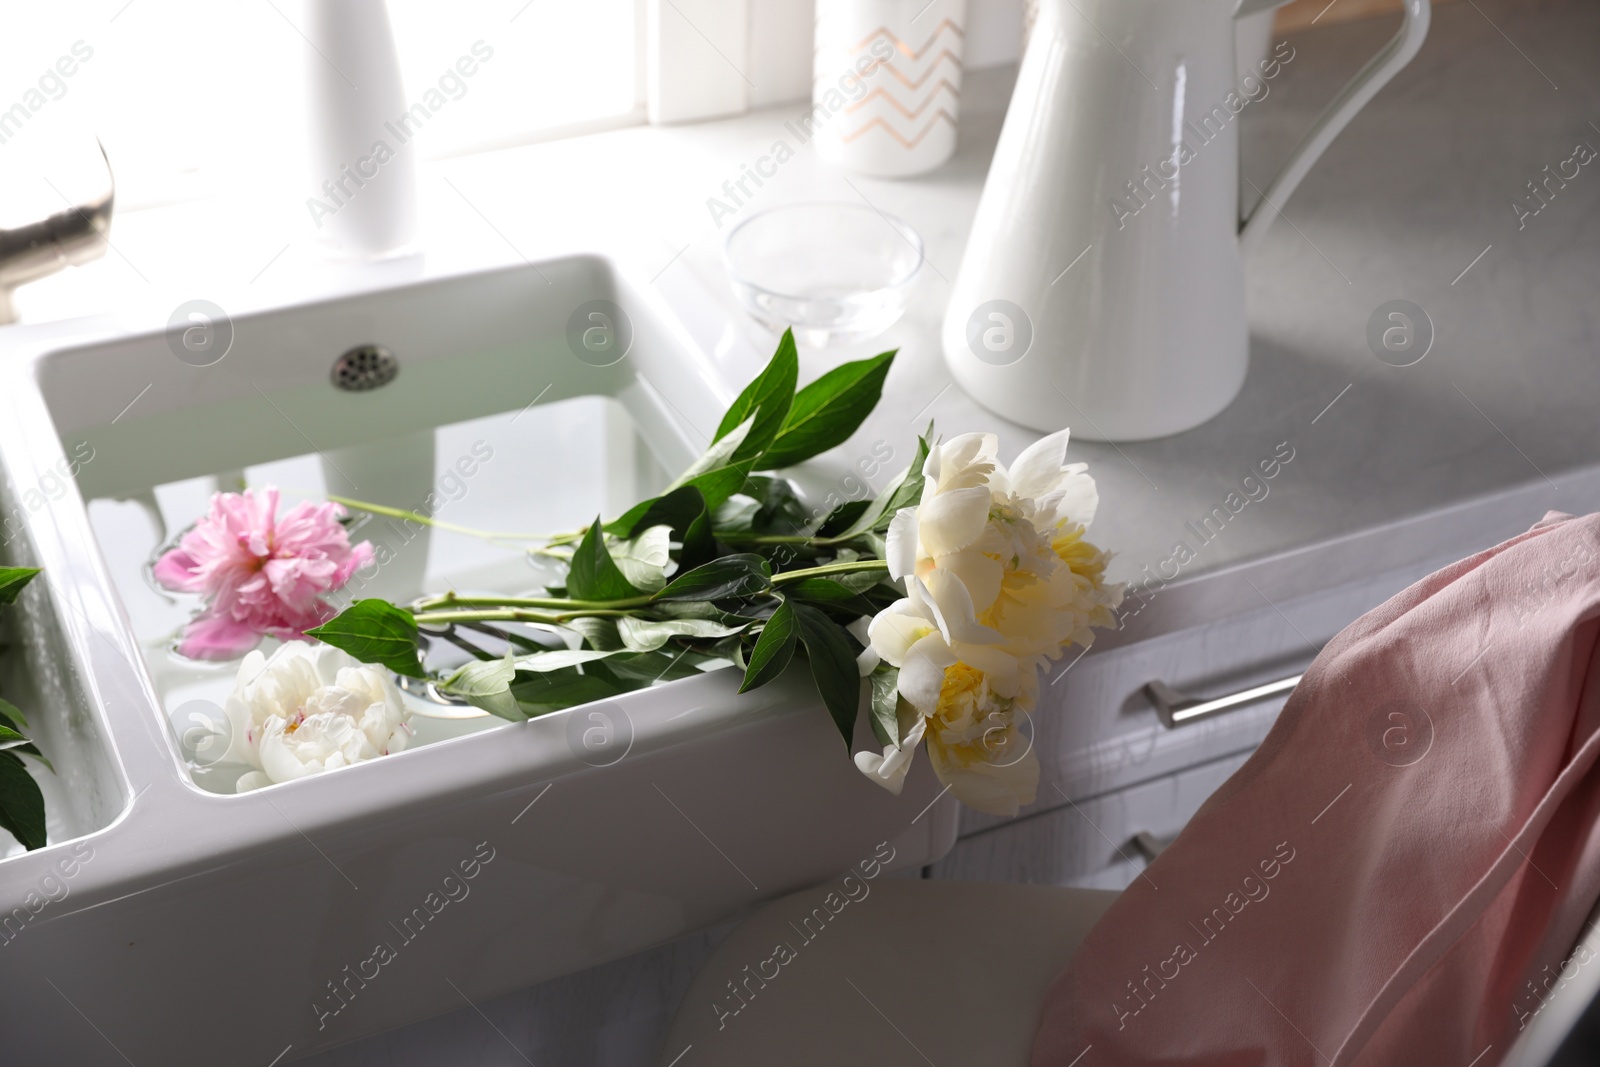
[[[43,693],[59,771],[50,846],[0,859],[0,923],[21,917],[0,945],[6,1062],[286,1062],[950,848],[926,761],[901,797],[877,789],[794,675],[739,696],[710,672],[515,725],[418,720],[405,752],[246,793],[197,758],[192,725],[234,667],[168,651],[194,605],[144,566],[211,493],[272,483],[555,531],[704,448],[742,382],[629,277],[582,254],[232,322],[0,336],[10,552],[45,568],[6,670]],[[355,595],[546,577],[445,530],[366,518],[360,537],[394,558]]]

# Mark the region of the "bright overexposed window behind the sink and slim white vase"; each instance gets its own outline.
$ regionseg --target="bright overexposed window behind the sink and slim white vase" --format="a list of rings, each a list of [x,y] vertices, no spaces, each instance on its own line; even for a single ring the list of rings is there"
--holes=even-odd
[[[344,0],[326,0],[344,2]],[[94,133],[118,206],[301,173],[307,0],[6,5],[0,165],[40,131]],[[453,155],[643,120],[640,0],[390,0],[408,101],[443,101],[416,139]],[[470,77],[459,74],[467,56]],[[278,192],[277,195],[282,195]]]

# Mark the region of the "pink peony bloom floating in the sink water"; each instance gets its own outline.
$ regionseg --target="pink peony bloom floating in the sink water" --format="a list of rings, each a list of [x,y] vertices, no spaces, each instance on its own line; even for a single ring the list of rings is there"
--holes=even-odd
[[[307,501],[283,518],[277,512],[277,486],[218,493],[211,512],[155,561],[165,589],[206,598],[178,643],[182,656],[237,659],[267,633],[304,638],[336,614],[322,593],[371,561],[371,542],[352,545],[339,525],[341,506]]]

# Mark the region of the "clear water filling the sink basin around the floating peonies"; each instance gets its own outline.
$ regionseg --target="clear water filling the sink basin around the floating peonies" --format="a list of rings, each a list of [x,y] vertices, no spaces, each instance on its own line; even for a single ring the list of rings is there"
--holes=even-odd
[[[189,414],[163,416],[162,432],[203,440],[200,426],[182,426]],[[315,427],[307,430],[317,435]],[[93,432],[83,440],[96,453],[109,448],[106,442],[98,443]],[[538,536],[573,530],[595,515],[621,514],[670,480],[627,410],[608,397],[576,397],[198,477],[190,470],[176,478],[157,474],[147,488],[96,486],[94,464],[86,464],[78,478],[90,523],[139,638],[157,696],[189,757],[195,755],[197,739],[205,741],[205,723],[219,718],[237,664],[197,662],[173,651],[178,632],[200,603],[195,597],[157,589],[147,568],[162,545],[205,514],[213,493],[275,485],[283,494],[280,515],[302,499],[322,501],[333,493],[432,514],[437,522],[456,526]],[[330,597],[341,606],[360,597],[405,603],[451,589],[528,593],[558,577],[557,563],[525,552],[526,539],[488,541],[440,526],[354,514],[360,522],[350,539],[371,541],[378,563],[358,573],[342,593]],[[261,645],[269,653],[274,646],[272,638]],[[459,657],[464,659],[464,653]],[[426,697],[408,694],[406,701],[419,710],[438,710]],[[445,741],[501,721],[418,715],[411,720],[413,744]],[[200,752],[205,750],[202,744]],[[205,763],[203,755],[190,761],[194,781],[224,793],[234,792],[240,773],[248,769]]]

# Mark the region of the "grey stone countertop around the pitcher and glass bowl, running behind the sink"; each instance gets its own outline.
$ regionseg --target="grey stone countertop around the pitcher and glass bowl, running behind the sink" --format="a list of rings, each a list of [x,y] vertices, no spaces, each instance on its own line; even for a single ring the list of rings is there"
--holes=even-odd
[[[1395,22],[1293,37],[1293,61],[1240,117],[1248,181],[1267,186]],[[1070,458],[1088,461],[1099,483],[1091,537],[1117,553],[1114,577],[1178,573],[1158,608],[1112,643],[1459,557],[1552,507],[1600,506],[1600,160],[1549,203],[1530,200],[1528,189],[1546,166],[1570,174],[1563,162],[1578,144],[1600,147],[1597,54],[1600,6],[1584,0],[1437,8],[1419,56],[1357,115],[1246,262],[1251,368],[1238,398],[1178,437],[1072,445]],[[720,261],[723,235],[786,202],[867,202],[925,238],[910,309],[870,342],[802,352],[805,381],[843,358],[901,349],[878,411],[813,472],[813,488],[859,494],[867,490],[851,467],[866,464],[867,482],[882,486],[930,419],[944,435],[995,430],[1003,458],[1035,437],[952,386],[939,352],[939,320],[1013,77],[1010,69],[968,75],[958,154],[922,179],[832,168],[802,142],[794,120],[803,106],[792,104],[429,163],[421,168],[426,251],[413,261],[328,264],[307,237],[286,238],[306,234],[293,190],[250,211],[213,202],[131,213],[118,218],[115,254],[29,286],[19,306],[34,322],[136,306],[165,323],[195,296],[230,310],[267,306],[352,278],[378,285],[520,262],[586,242],[605,248],[605,235],[627,234],[646,248],[642,285],[658,286],[669,304],[693,286],[720,306],[722,334],[702,341],[738,387],[774,336],[738,309]],[[725,184],[758,163],[771,173],[774,163],[762,160],[779,155],[774,174],[730,197]],[[1536,203],[1539,211],[1526,213]],[[1421,306],[1435,330],[1413,366],[1390,366],[1368,349],[1368,320],[1394,299]],[[1064,426],[1090,419],[1062,403]],[[893,458],[883,459],[888,450]],[[1288,450],[1293,459],[1266,496],[1256,488],[1261,499],[1240,507],[1245,475]],[[1190,523],[1229,507],[1230,493],[1240,494],[1238,512],[1213,537],[1197,536]],[[1179,542],[1192,558],[1174,561]],[[1243,571],[1250,584],[1234,581]]]

